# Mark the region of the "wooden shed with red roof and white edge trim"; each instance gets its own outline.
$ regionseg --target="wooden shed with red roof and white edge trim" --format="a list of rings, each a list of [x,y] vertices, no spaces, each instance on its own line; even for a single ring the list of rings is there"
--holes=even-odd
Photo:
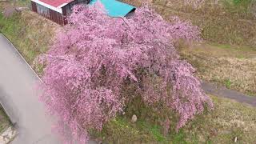
[[[66,16],[71,13],[71,7],[76,4],[88,4],[90,0],[31,0],[32,11],[43,17],[66,25]]]

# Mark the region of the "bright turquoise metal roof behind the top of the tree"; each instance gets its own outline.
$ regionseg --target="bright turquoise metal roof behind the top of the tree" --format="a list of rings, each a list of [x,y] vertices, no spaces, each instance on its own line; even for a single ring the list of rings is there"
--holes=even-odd
[[[130,11],[134,10],[134,6],[130,6],[126,3],[119,2],[116,0],[98,0],[102,2],[102,5],[105,6],[107,14],[110,17],[125,17],[126,14],[129,14]],[[91,0],[90,5],[97,2],[97,0]]]

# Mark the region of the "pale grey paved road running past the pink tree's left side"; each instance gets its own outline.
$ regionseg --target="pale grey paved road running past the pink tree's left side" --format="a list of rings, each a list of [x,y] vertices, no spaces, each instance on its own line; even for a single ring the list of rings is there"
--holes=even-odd
[[[12,144],[60,143],[51,133],[51,118],[46,117],[34,93],[35,82],[37,76],[0,34],[0,102],[18,129]]]

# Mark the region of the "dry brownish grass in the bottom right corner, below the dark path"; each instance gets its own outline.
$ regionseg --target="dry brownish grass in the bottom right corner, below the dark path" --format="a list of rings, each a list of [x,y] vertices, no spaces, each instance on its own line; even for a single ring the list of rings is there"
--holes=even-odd
[[[198,138],[197,143],[238,143],[256,142],[256,110],[226,98],[211,96],[214,110],[202,114],[185,126],[186,139]]]

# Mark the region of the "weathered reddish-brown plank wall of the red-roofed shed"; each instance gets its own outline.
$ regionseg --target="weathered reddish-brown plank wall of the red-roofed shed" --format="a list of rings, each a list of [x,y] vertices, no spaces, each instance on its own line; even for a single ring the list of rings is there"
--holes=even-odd
[[[51,21],[54,21],[62,26],[66,24],[66,20],[61,13],[58,13],[57,11],[54,11],[54,10],[50,10],[45,6],[42,6],[32,1],[31,1],[31,6],[32,6],[32,11],[42,15],[43,17],[48,18]]]

